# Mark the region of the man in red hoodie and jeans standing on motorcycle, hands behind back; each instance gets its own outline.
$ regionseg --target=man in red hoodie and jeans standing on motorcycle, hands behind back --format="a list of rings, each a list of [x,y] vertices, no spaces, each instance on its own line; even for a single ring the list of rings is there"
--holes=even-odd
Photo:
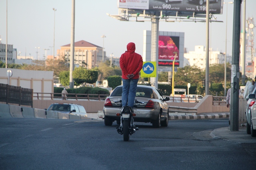
[[[128,43],[127,51],[120,57],[123,81],[122,106],[130,106],[132,108],[134,106],[139,72],[142,69],[142,65],[141,55],[135,53],[135,44]]]

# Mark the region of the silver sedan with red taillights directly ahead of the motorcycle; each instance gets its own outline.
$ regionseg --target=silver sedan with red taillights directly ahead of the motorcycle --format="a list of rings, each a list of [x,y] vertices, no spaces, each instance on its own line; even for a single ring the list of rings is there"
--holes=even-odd
[[[116,113],[121,113],[122,86],[117,86],[108,98],[105,100],[103,112],[104,123],[111,126],[114,121],[119,125],[120,117]],[[169,97],[163,98],[158,89],[147,86],[138,85],[135,100],[142,102],[134,105],[135,122],[152,123],[153,127],[168,126],[168,104],[166,101]]]

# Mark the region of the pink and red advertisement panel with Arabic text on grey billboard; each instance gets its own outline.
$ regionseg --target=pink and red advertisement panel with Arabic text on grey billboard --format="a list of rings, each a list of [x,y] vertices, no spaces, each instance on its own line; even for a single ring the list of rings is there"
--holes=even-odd
[[[179,60],[180,37],[175,36],[159,36],[158,40],[158,60]]]

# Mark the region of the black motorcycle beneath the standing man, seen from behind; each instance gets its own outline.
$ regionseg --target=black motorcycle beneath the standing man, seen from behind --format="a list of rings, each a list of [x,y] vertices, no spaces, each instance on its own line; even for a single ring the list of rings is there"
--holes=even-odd
[[[120,101],[120,103],[122,102]],[[138,104],[142,102],[138,102],[137,100],[135,100],[135,103]],[[121,109],[121,113],[116,113],[116,116],[121,116],[120,117],[121,124],[120,126],[116,127],[116,131],[120,135],[124,135],[124,141],[129,141],[130,135],[134,134],[136,131],[139,130],[139,128],[136,127],[133,121],[133,117],[136,116],[136,114],[133,111],[133,108],[130,106],[123,106]]]

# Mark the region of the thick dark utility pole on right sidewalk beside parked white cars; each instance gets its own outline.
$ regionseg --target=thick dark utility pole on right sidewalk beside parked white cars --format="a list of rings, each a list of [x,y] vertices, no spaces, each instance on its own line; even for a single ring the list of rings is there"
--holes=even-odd
[[[240,26],[241,26],[242,0],[234,1],[233,18],[233,44],[231,66],[231,106],[230,106],[230,131],[239,130],[239,57],[240,57]]]

